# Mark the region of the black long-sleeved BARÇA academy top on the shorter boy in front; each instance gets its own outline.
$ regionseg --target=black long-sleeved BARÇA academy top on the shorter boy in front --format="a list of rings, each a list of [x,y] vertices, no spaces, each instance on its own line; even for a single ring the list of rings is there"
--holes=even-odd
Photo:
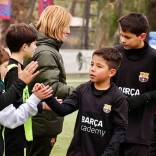
[[[59,104],[55,98],[45,102],[59,115],[78,110],[74,136],[67,156],[115,156],[124,141],[128,105],[125,96],[112,84],[96,90],[94,84],[80,85]]]

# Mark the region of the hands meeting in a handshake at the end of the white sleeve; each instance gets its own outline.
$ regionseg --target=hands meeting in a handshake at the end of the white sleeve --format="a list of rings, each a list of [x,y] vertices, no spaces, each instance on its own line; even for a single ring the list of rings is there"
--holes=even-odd
[[[50,86],[45,86],[44,84],[35,84],[32,92],[41,100],[52,96],[52,88]]]

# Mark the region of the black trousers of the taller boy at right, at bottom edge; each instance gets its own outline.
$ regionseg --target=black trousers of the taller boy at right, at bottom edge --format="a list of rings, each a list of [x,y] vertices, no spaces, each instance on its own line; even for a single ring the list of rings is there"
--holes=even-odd
[[[149,146],[124,143],[120,146],[119,156],[149,156]]]

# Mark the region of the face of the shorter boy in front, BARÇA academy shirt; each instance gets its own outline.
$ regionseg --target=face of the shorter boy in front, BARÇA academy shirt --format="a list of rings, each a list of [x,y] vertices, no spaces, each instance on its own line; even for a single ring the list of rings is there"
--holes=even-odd
[[[115,74],[112,73],[112,70],[115,69],[109,69],[107,62],[102,57],[94,55],[89,71],[90,80],[94,83],[105,83]]]

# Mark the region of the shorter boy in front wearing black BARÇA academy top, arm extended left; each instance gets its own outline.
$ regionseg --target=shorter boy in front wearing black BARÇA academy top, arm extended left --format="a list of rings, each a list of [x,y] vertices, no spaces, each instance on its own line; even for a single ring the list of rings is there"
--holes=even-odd
[[[125,138],[128,115],[125,96],[111,82],[121,58],[115,48],[96,50],[89,82],[77,87],[61,104],[55,98],[45,100],[60,116],[78,110],[67,156],[117,156]]]

